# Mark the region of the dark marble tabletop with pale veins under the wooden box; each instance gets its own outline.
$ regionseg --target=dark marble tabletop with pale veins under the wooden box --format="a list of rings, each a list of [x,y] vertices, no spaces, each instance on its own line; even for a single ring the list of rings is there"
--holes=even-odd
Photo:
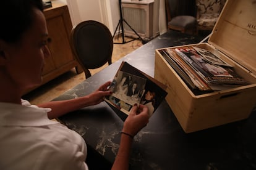
[[[90,94],[112,79],[124,60],[154,76],[155,49],[194,44],[200,36],[168,31],[109,65],[54,100]],[[236,123],[186,134],[164,100],[148,125],[134,137],[130,169],[256,169],[256,115]],[[123,122],[106,102],[59,118],[87,145],[113,163]]]

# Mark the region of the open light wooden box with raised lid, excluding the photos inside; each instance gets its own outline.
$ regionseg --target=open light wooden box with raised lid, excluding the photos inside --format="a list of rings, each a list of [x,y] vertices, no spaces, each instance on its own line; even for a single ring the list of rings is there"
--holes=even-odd
[[[195,95],[163,55],[155,54],[155,78],[168,86],[166,101],[185,132],[246,119],[256,104],[256,3],[227,1],[208,43],[191,44],[221,55],[249,85]],[[184,46],[179,46],[184,47]],[[174,48],[174,47],[170,47]]]

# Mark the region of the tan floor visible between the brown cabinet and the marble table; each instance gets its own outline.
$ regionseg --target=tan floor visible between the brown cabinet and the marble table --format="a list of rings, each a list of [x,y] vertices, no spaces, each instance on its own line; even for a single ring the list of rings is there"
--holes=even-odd
[[[129,41],[129,38],[125,39],[125,42],[127,41]],[[114,39],[114,42],[122,42],[122,38]],[[142,46],[142,42],[137,39],[127,42],[126,44],[114,44],[112,62],[116,62],[125,55],[134,51],[135,49],[138,49],[140,46]],[[106,63],[106,65],[103,65],[103,67],[90,71],[93,75],[107,66],[108,64]],[[26,99],[30,101],[30,103],[35,105],[38,103],[49,102],[84,80],[84,73],[77,74],[75,72],[75,68],[73,68],[72,70],[64,73],[58,78],[49,81],[49,83],[46,83],[43,86],[38,87],[34,91],[24,95],[22,99]],[[99,84],[99,86],[100,85],[101,84]]]

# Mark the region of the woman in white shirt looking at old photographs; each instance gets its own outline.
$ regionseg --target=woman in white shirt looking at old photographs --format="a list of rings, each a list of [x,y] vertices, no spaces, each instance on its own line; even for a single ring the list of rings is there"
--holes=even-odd
[[[0,169],[88,169],[85,141],[51,119],[102,102],[111,94],[110,82],[77,99],[38,106],[21,99],[23,92],[41,83],[44,59],[50,55],[42,10],[41,0],[1,2]],[[138,109],[139,115],[133,107],[124,122],[112,169],[128,169],[132,137],[148,123],[147,107]]]

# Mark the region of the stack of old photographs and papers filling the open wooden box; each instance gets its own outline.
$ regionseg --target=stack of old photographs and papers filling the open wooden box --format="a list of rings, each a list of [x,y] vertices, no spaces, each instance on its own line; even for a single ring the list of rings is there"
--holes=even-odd
[[[193,92],[204,94],[249,84],[231,65],[206,49],[177,47],[159,52]]]

